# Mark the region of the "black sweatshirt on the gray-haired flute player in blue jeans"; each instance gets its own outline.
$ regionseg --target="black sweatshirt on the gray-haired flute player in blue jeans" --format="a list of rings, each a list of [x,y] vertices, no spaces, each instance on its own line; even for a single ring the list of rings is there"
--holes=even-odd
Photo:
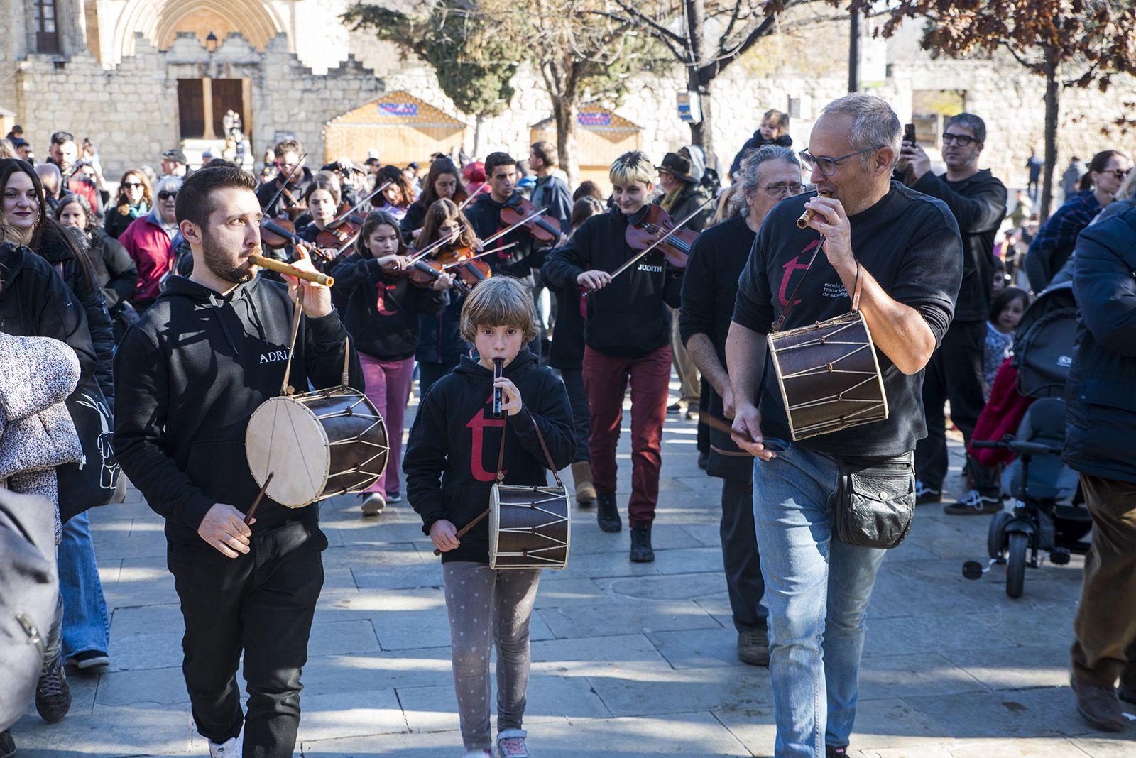
[[[824,321],[852,309],[849,293],[824,251],[805,268],[820,244],[816,229],[799,229],[796,219],[816,193],[787,197],[769,211],[738,281],[734,321],[767,335],[804,276],[796,305],[784,330]],[[946,204],[902,184],[871,208],[850,217],[852,252],[887,295],[914,309],[927,322],[937,347],[951,323],[962,278],[962,241]],[[888,416],[842,431],[819,435],[799,446],[834,455],[894,456],[914,448],[927,436],[922,409],[922,372],[896,370],[878,347]],[[761,389],[761,433],[792,439],[785,401],[767,357]]]

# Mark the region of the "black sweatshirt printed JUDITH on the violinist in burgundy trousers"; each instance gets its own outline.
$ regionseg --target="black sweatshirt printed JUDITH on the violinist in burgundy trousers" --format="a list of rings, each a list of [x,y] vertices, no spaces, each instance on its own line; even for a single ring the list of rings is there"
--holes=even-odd
[[[544,278],[562,289],[579,288],[576,278],[587,269],[618,269],[638,253],[624,238],[628,221],[641,221],[644,205],[628,218],[618,208],[584,221],[563,247],[549,254]],[[670,311],[678,308],[683,270],[667,263],[659,250],[587,296],[584,343],[611,356],[641,357],[670,343]]]

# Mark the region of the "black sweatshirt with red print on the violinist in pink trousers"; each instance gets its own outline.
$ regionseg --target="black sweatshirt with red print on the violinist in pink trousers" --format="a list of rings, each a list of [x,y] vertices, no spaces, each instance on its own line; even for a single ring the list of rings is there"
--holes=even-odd
[[[390,277],[375,258],[351,253],[332,268],[332,298],[356,349],[381,361],[401,361],[415,354],[421,335],[420,315],[437,317],[444,292]]]

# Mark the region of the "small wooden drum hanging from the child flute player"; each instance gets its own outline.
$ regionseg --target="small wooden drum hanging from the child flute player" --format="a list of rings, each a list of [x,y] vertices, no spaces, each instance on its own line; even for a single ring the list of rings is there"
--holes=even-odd
[[[570,542],[568,491],[563,487],[494,485],[491,568],[563,568]]]

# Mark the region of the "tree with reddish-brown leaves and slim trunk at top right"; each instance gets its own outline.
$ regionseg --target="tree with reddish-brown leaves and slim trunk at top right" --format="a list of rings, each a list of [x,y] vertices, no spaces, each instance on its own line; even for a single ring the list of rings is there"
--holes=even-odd
[[[1061,91],[1095,84],[1103,92],[1116,73],[1136,70],[1131,0],[852,0],[852,8],[889,15],[884,36],[905,18],[926,17],[924,49],[960,57],[1006,50],[1045,79],[1043,219],[1053,199]]]

